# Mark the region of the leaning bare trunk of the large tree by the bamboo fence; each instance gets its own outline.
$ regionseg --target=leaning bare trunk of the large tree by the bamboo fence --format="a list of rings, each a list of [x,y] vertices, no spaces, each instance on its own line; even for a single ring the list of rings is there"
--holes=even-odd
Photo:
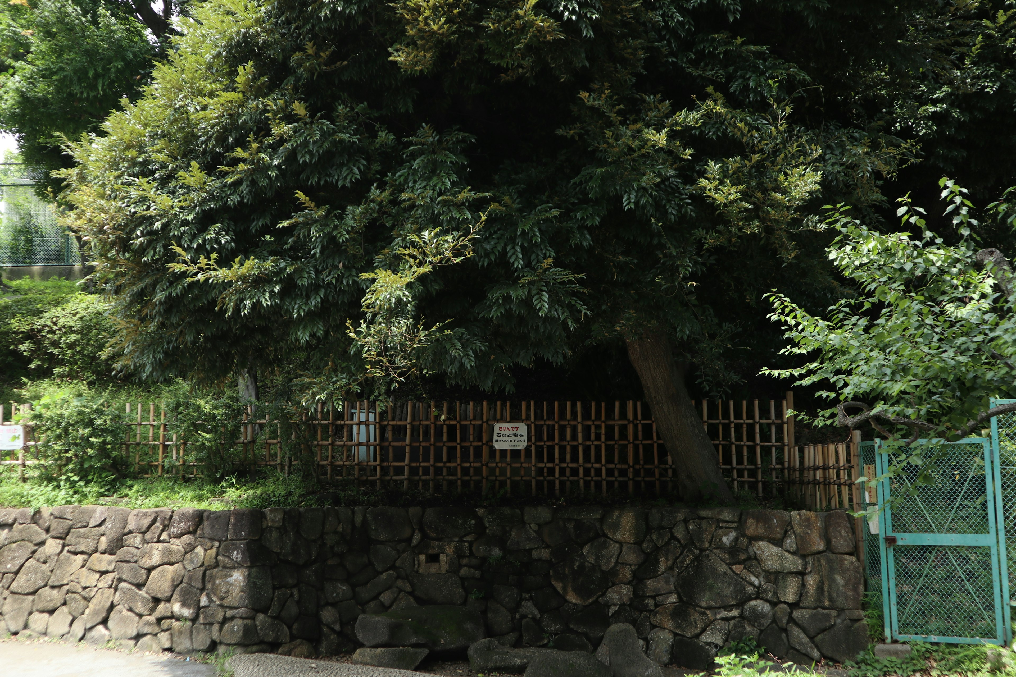
[[[658,329],[625,343],[656,429],[677,470],[682,498],[734,502],[734,494],[719,470],[716,450],[685,388],[687,363],[674,358],[671,341]]]

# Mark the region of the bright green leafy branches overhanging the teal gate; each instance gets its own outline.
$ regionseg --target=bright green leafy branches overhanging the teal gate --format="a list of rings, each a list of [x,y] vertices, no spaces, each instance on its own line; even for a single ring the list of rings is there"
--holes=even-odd
[[[1016,279],[994,248],[982,248],[981,222],[967,191],[943,179],[952,232],[929,229],[927,212],[902,198],[902,226],[882,233],[836,209],[839,238],[828,256],[859,293],[823,316],[774,294],[773,320],[786,328],[787,352],[810,355],[776,376],[821,385],[835,401],[824,423],[870,421],[888,437],[961,438],[1001,410],[991,399],[1016,395]],[[1007,194],[1008,197],[1008,194]],[[1012,227],[1012,203],[991,205],[985,225]],[[842,402],[853,402],[845,407]],[[888,429],[887,429],[888,428]]]

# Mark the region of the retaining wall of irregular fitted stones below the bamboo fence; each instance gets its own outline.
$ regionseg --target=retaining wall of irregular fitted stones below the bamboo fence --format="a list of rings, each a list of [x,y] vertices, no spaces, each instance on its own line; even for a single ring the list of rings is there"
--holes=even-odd
[[[334,654],[357,618],[480,611],[506,646],[592,651],[634,625],[658,663],[756,636],[778,657],[867,644],[844,513],[681,506],[0,510],[2,626],[143,651]]]

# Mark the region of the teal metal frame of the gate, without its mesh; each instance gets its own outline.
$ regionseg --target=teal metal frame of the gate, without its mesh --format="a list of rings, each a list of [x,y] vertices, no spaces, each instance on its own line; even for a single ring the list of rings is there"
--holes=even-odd
[[[1008,598],[1008,562],[1005,555],[1005,522],[1000,520],[1002,516],[1001,491],[996,491],[997,487],[1001,487],[1001,471],[999,469],[998,426],[995,418],[992,418],[992,437],[965,437],[955,443],[949,443],[944,439],[918,441],[925,443],[941,443],[943,445],[981,445],[986,466],[985,491],[986,499],[989,502],[988,534],[894,534],[892,533],[892,509],[886,504],[886,500],[890,496],[888,480],[882,480],[878,483],[877,492],[879,504],[885,505],[883,510],[879,511],[879,554],[881,556],[882,568],[882,609],[883,619],[885,621],[884,630],[887,640],[891,641],[892,639],[902,639],[957,645],[990,644],[1005,646],[1012,639]],[[878,472],[879,475],[883,475],[887,471],[886,462],[888,460],[888,455],[882,451],[881,439],[876,439],[875,443],[876,472]],[[994,510],[992,510],[993,506]],[[999,524],[1002,525],[1001,529],[999,529]],[[956,545],[988,547],[990,550],[994,550],[994,556],[991,558],[992,593],[995,598],[995,628],[998,638],[900,634],[899,632],[893,631],[894,628],[898,628],[899,626],[895,594],[896,567],[895,558],[889,556],[889,548],[886,545],[887,536],[896,537],[897,542],[895,545]],[[985,540],[988,542],[983,542]]]

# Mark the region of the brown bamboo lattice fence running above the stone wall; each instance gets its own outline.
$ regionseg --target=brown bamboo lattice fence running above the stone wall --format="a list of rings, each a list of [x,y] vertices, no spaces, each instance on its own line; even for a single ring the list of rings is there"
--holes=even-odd
[[[852,505],[852,445],[793,444],[793,393],[782,400],[698,401],[724,477],[737,492],[783,495],[811,509]],[[124,453],[142,476],[201,473],[156,403],[127,403]],[[28,405],[0,406],[0,420]],[[524,449],[495,449],[493,424],[525,423]],[[641,402],[345,402],[319,407],[303,421],[303,444],[322,479],[378,488],[524,494],[663,494],[677,490],[675,471]],[[283,451],[277,421],[237,422],[240,465],[275,467]],[[6,452],[3,465],[36,462],[37,445]],[[791,452],[792,450],[792,452]]]

